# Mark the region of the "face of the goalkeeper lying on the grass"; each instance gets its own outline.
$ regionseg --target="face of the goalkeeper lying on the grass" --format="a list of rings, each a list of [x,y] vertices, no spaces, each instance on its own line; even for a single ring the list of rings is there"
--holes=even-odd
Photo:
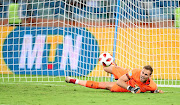
[[[151,77],[151,71],[146,70],[146,69],[142,69],[141,75],[140,75],[140,81],[146,82],[150,77]]]

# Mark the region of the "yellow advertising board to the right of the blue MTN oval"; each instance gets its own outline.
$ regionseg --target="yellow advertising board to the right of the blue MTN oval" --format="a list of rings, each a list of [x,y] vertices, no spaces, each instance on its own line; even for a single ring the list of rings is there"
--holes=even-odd
[[[88,28],[101,53],[112,54],[114,28]],[[124,68],[152,65],[153,78],[180,79],[180,29],[118,29],[115,61]],[[90,76],[108,76],[97,65]]]

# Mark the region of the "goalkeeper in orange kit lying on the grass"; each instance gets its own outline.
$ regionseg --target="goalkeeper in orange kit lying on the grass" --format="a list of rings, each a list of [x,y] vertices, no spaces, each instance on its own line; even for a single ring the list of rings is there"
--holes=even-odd
[[[156,83],[151,79],[153,69],[150,65],[146,65],[143,69],[124,69],[115,65],[103,67],[104,71],[114,75],[117,82],[95,82],[83,81],[66,77],[67,83],[79,84],[94,89],[107,89],[111,92],[132,92],[143,93],[150,91],[151,93],[163,93],[158,90]]]

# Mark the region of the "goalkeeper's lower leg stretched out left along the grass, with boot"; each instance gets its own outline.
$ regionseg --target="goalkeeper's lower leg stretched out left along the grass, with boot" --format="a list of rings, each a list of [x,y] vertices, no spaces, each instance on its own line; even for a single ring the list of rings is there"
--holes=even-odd
[[[71,77],[66,77],[65,80],[67,83],[79,84],[85,87],[94,88],[94,89],[108,89],[110,90],[115,82],[96,82],[96,81],[83,81],[74,79]]]

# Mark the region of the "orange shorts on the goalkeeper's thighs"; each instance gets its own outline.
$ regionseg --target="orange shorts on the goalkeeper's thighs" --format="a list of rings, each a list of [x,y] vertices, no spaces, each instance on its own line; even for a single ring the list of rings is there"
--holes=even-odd
[[[112,69],[112,74],[114,75],[114,78],[117,80],[119,79],[122,75],[126,74],[129,72],[129,69],[124,69],[121,67],[113,67]],[[117,84],[114,84],[113,87],[110,90],[111,92],[130,92],[127,89],[124,89]]]

